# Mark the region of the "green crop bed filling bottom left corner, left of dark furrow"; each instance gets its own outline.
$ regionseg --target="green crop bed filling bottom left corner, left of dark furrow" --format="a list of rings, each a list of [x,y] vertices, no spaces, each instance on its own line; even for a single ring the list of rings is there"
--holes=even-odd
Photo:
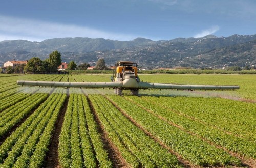
[[[0,167],[42,165],[66,95],[52,94],[0,146]]]

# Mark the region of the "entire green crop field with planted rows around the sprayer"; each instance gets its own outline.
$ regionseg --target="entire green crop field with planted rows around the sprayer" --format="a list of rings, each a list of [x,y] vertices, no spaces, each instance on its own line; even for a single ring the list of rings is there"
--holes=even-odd
[[[236,91],[18,86],[110,75],[0,74],[0,167],[256,167],[255,75],[140,75]]]

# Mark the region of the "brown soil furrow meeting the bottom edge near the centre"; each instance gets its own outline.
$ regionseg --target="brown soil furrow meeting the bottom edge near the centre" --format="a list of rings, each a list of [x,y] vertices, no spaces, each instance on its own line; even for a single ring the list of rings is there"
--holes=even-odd
[[[99,126],[98,132],[101,135],[101,140],[104,144],[105,149],[108,151],[108,154],[109,154],[108,156],[111,162],[113,163],[113,167],[124,167],[124,168],[129,167],[125,159],[122,157],[118,148],[111,142],[111,139],[109,138],[108,133],[105,131],[103,125],[101,124],[89,98],[88,98],[88,102],[90,104],[90,109],[93,113],[94,119],[97,125]]]

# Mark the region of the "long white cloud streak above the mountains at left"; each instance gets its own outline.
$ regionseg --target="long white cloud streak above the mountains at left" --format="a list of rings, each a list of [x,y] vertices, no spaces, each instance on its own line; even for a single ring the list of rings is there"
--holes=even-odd
[[[61,37],[89,37],[113,40],[133,40],[137,38],[134,35],[104,32],[90,27],[2,15],[0,15],[0,22],[0,41],[23,39],[39,42],[45,39]]]

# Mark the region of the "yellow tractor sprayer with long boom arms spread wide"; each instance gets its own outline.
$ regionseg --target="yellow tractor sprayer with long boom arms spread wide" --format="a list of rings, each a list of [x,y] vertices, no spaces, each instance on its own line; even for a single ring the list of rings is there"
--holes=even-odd
[[[122,95],[122,90],[130,89],[131,95],[138,95],[139,89],[164,90],[234,90],[237,85],[177,85],[170,83],[141,82],[138,77],[138,64],[130,61],[116,62],[115,73],[111,82],[55,82],[55,81],[17,81],[18,85],[46,86],[66,88],[113,88],[115,94]]]

